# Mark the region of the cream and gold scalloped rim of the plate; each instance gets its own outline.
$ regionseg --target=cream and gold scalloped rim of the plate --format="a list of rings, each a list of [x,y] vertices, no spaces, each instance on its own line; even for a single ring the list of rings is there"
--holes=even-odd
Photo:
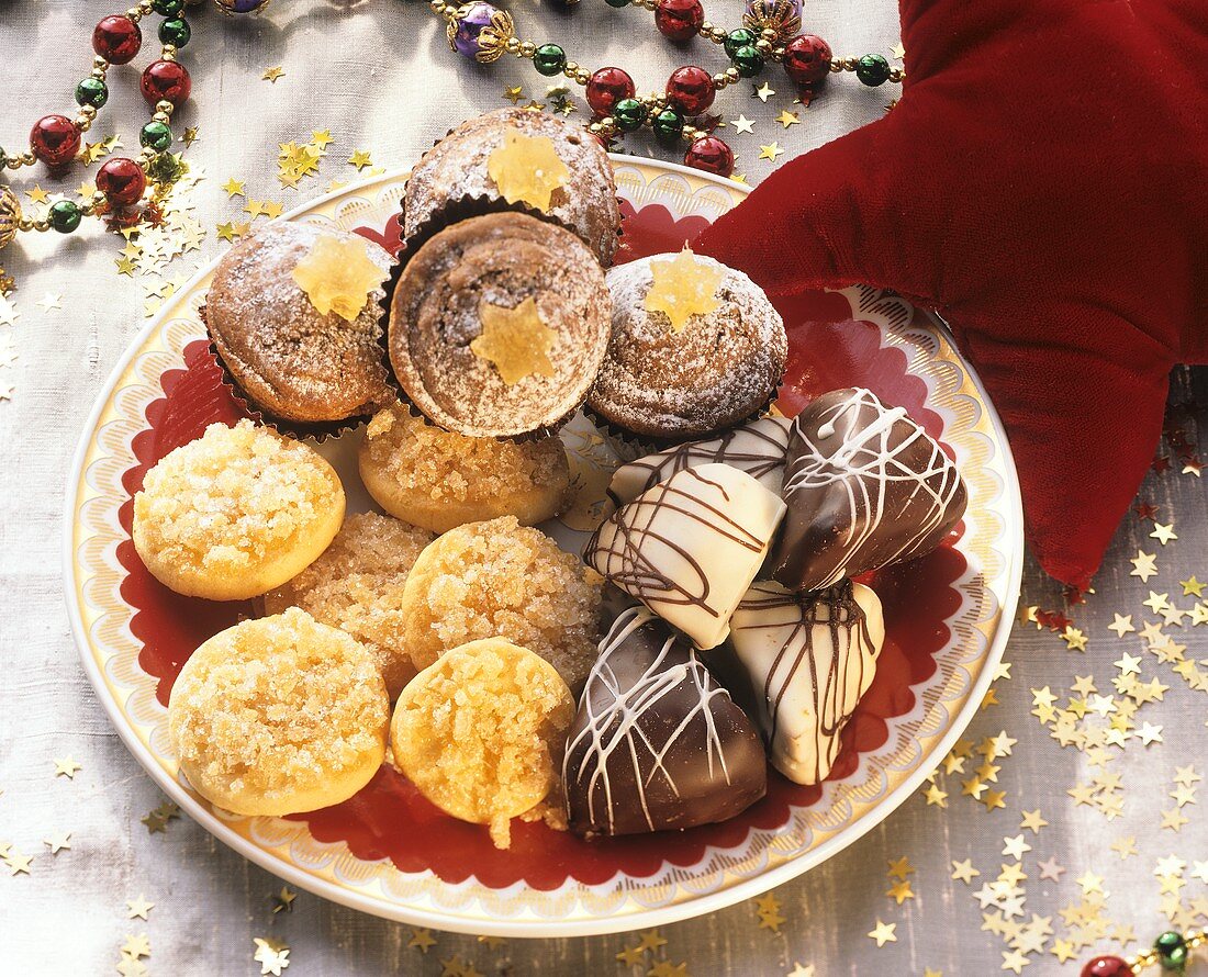
[[[614,156],[617,184],[638,205],[662,203],[676,217],[716,217],[749,188],[673,163]],[[283,220],[381,226],[397,208],[406,171],[384,174],[307,203]],[[492,889],[475,878],[445,883],[406,873],[389,860],[362,861],[343,843],[320,843],[302,821],[240,818],[213,809],[184,783],[167,749],[165,710],[155,680],[138,665],[140,645],[121,599],[116,547],[121,476],[134,463],[130,442],[143,411],[162,395],[164,370],[181,365],[184,343],[203,335],[197,307],[214,264],[199,272],[132,342],[85,425],[66,484],[64,588],[80,657],[97,696],[134,757],[182,810],[210,833],[284,880],[362,912],[412,925],[505,937],[583,936],[656,926],[720,909],[779,885],[847,848],[908,798],[977,713],[1001,661],[1020,592],[1023,516],[1003,426],[972,370],[934,316],[866,287],[844,289],[853,318],[876,321],[928,386],[928,406],[945,419],[970,488],[960,548],[969,569],[954,585],[960,609],[952,640],[931,679],[914,686],[914,709],[890,721],[881,749],[824,799],[794,808],[774,831],[751,830],[736,849],[707,848],[689,867],[663,866],[650,878],[621,873],[600,885],[567,883],[551,891],[517,884]]]

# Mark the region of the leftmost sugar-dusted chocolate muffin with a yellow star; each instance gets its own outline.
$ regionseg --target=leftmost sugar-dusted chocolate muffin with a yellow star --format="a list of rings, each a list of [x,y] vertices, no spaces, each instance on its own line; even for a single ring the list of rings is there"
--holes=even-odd
[[[379,284],[367,286],[364,307],[352,319],[336,309],[320,312],[295,280],[320,243],[338,245],[337,254],[356,258],[362,272],[381,271]],[[203,315],[222,364],[252,407],[271,419],[310,424],[371,414],[394,400],[381,338],[381,281],[390,264],[390,255],[373,242],[309,223],[266,225],[227,251]],[[341,274],[331,287],[342,281]],[[353,304],[359,300],[343,297]]]

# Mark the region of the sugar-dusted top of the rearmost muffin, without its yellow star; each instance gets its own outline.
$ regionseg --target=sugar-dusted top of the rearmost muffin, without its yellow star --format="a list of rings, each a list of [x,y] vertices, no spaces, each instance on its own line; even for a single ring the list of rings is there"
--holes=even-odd
[[[403,235],[461,198],[496,200],[500,190],[490,175],[490,156],[507,133],[544,136],[565,164],[564,186],[553,190],[545,213],[574,231],[603,264],[617,248],[621,209],[612,165],[600,141],[547,112],[506,107],[466,120],[424,153],[407,180]]]

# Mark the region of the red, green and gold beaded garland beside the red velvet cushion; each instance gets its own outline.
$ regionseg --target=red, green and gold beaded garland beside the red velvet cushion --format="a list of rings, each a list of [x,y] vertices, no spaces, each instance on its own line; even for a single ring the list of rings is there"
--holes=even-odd
[[[716,93],[741,78],[760,75],[769,63],[778,63],[808,99],[832,72],[853,71],[867,86],[900,82],[905,71],[892,68],[881,54],[835,58],[830,45],[814,34],[800,34],[801,0],[748,0],[743,25],[726,30],[704,19],[701,0],[606,0],[609,6],[638,6],[654,11],[655,27],[673,41],[696,35],[720,45],[730,66],[710,75],[687,64],[675,69],[662,94],[638,97],[633,77],[621,68],[588,71],[567,59],[556,43],[535,45],[516,36],[512,16],[487,0],[449,4],[430,0],[432,12],[448,22],[449,47],[480,64],[499,60],[505,53],[533,62],[538,74],[563,75],[585,87],[587,104],[594,112],[588,129],[605,144],[644,127],[667,147],[687,144],[684,162],[696,169],[730,176],[734,155],[701,117],[713,105]]]

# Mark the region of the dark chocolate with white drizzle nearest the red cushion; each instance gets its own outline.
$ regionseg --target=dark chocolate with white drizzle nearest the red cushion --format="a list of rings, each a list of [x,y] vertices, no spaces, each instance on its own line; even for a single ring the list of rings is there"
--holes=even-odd
[[[847,388],[792,421],[784,501],[765,576],[818,591],[931,552],[968,496],[956,464],[904,408]]]

